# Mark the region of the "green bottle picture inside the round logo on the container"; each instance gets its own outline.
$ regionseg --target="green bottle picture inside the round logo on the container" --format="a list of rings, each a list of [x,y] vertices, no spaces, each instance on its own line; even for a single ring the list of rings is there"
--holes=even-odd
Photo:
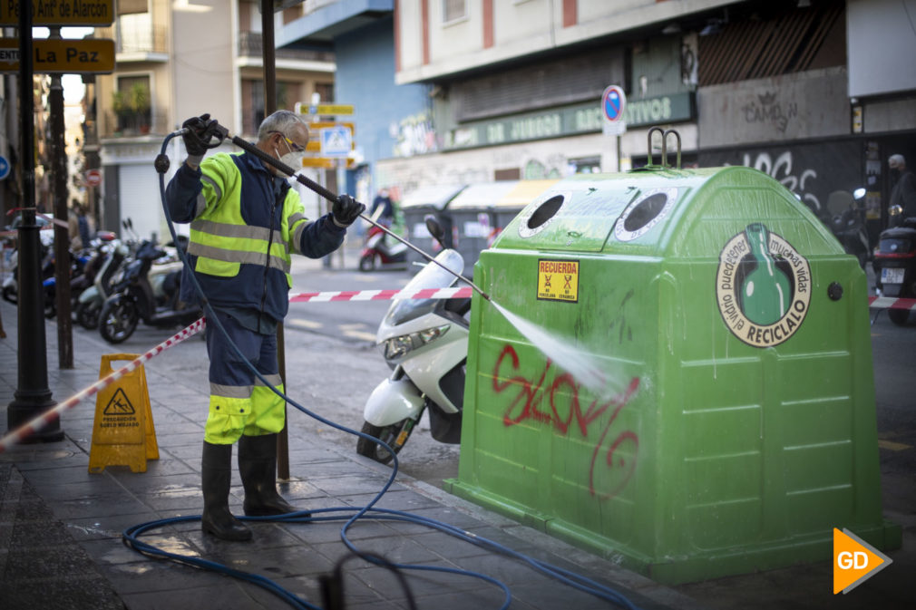
[[[745,276],[740,290],[741,310],[747,319],[761,326],[779,321],[789,310],[791,284],[769,253],[769,231],[763,223],[745,229],[754,269]],[[747,259],[746,259],[747,260]]]

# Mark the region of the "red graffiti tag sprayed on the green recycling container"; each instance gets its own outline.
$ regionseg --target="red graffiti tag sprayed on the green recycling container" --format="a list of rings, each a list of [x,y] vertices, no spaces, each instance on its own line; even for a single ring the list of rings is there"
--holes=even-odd
[[[497,394],[509,387],[518,387],[518,394],[512,399],[503,413],[503,424],[507,427],[515,426],[526,419],[533,419],[542,423],[550,423],[561,434],[569,433],[569,430],[573,427],[573,430],[579,430],[583,439],[586,439],[588,438],[589,425],[595,419],[604,415],[609,408],[614,408],[610,418],[607,419],[604,428],[601,430],[598,441],[594,444],[592,463],[588,471],[588,489],[592,496],[597,496],[600,500],[607,500],[620,493],[627,486],[630,477],[636,470],[636,455],[639,448],[639,438],[636,433],[632,430],[624,430],[617,434],[614,441],[607,447],[604,453],[604,462],[610,482],[607,485],[609,488],[603,489],[601,493],[595,489],[596,486],[600,485],[595,482],[594,466],[598,461],[599,455],[601,455],[605,439],[608,439],[608,431],[614,425],[617,415],[620,414],[621,409],[627,406],[629,399],[636,393],[639,387],[639,378],[633,377],[630,379],[626,390],[609,400],[605,400],[605,402],[599,403],[598,399],[595,398],[583,413],[582,406],[579,403],[579,384],[576,383],[575,377],[569,373],[562,373],[554,377],[550,386],[541,391],[547,379],[547,374],[551,370],[551,360],[547,360],[540,377],[537,381],[534,381],[533,378],[529,380],[520,375],[512,377],[500,375],[503,361],[507,357],[511,358],[511,369],[518,371],[518,365],[520,364],[518,353],[516,353],[512,345],[503,347],[503,351],[496,358],[496,365],[493,367],[493,389]],[[561,388],[565,388],[567,391],[558,392]],[[568,404],[560,404],[564,396],[569,397]],[[550,404],[549,411],[541,405],[545,397]],[[632,456],[628,463],[623,457],[617,457],[615,461],[615,452],[617,450]]]

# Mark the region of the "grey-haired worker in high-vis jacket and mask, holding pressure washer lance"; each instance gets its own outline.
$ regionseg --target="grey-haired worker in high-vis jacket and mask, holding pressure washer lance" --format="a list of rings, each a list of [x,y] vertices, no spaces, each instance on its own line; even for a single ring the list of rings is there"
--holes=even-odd
[[[272,165],[248,152],[203,158],[213,123],[202,115],[182,125],[188,158],[170,180],[166,202],[175,222],[191,223],[188,259],[227,335],[207,324],[210,411],[201,464],[202,528],[220,539],[247,540],[251,530],[228,504],[235,441],[245,515],[302,511],[277,491],[284,401],[239,358],[232,343],[268,384],[283,389],[276,331],[289,309],[290,255],[319,258],[333,252],[365,206],[341,195],[331,213],[310,221],[297,191]],[[261,123],[256,147],[298,169],[308,141],[309,129],[299,114],[280,110]],[[196,298],[190,278],[181,282],[181,297]]]

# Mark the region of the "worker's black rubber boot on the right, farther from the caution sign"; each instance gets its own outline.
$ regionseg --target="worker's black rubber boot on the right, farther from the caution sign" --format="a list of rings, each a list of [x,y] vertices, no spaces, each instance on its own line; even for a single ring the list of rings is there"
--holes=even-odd
[[[277,492],[277,435],[243,436],[238,440],[238,472],[245,485],[245,515],[269,517],[297,513]],[[307,517],[308,513],[303,514]]]

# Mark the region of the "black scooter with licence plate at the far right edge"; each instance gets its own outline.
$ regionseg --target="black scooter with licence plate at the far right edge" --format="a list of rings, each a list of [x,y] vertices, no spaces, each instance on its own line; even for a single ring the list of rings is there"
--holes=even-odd
[[[916,217],[903,218],[899,205],[890,210],[891,227],[878,236],[873,265],[878,294],[900,299],[916,299]],[[897,226],[893,226],[897,224]],[[890,321],[907,323],[908,310],[888,310]]]

